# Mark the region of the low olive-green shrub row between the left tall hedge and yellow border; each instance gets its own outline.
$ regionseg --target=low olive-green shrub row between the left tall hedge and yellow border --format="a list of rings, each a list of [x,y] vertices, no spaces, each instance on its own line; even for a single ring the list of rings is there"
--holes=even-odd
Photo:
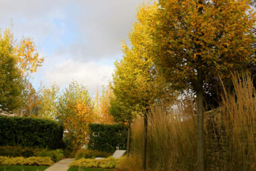
[[[21,146],[1,146],[0,156],[7,157],[50,157],[53,162],[58,162],[64,157],[63,150],[46,150],[39,148],[22,148]]]

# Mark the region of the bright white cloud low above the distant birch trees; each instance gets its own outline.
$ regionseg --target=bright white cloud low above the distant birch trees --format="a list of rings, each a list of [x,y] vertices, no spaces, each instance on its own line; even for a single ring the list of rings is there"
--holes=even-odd
[[[111,79],[113,67],[96,62],[76,62],[72,59],[57,64],[42,75],[42,82],[49,86],[53,83],[67,87],[72,80],[77,80],[88,87],[90,93],[95,93]]]

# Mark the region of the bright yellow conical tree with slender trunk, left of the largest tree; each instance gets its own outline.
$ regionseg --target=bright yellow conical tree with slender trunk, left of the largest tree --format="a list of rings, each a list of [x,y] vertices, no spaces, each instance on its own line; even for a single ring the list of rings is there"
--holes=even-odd
[[[149,19],[150,15],[156,12],[156,9],[157,5],[148,6],[148,9],[144,9],[143,13],[137,14],[137,19],[140,17],[148,17]],[[152,57],[145,50],[145,44],[152,42],[146,34],[143,34],[143,32],[146,33],[145,29],[146,27],[140,27],[135,23],[133,31],[129,34],[131,48],[125,42],[122,44],[124,56],[120,62],[115,62],[113,74],[115,99],[113,99],[110,108],[111,113],[115,117],[119,117],[117,120],[127,121],[129,124],[132,123],[135,115],[144,117],[144,166],[146,166],[148,112],[154,103],[159,103],[166,94],[171,95],[172,93],[168,89],[169,85],[165,78],[158,72]],[[122,113],[118,114],[119,111]]]

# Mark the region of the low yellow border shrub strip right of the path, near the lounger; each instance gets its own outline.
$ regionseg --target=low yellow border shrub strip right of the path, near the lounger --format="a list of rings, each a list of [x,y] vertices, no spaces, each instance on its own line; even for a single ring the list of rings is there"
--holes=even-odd
[[[85,167],[85,168],[116,168],[117,159],[109,157],[106,159],[95,160],[82,158],[74,160],[69,166]]]

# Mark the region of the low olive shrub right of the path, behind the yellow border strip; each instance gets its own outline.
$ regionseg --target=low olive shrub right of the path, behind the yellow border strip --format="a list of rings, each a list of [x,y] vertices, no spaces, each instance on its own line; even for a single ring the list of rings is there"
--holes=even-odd
[[[108,158],[111,153],[100,152],[97,150],[78,150],[75,154],[75,159],[79,160],[81,158]]]

